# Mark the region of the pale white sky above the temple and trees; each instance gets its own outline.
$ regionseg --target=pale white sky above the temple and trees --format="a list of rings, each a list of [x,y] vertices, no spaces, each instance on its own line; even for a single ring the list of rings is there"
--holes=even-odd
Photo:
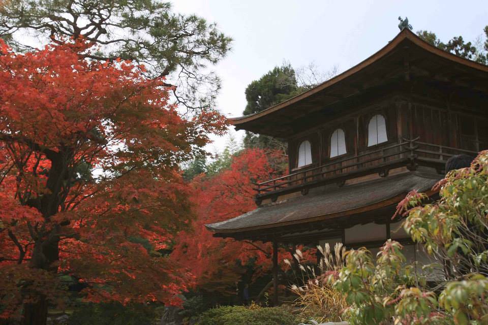
[[[488,25],[488,0],[171,2],[175,12],[216,22],[234,39],[232,51],[213,69],[222,79],[218,109],[228,117],[241,116],[246,86],[283,60],[295,68],[314,62],[324,71],[337,65],[342,72],[394,38],[398,16],[407,16],[413,31],[434,31],[444,42],[460,35],[474,41]],[[243,135],[233,133],[237,139]],[[226,138],[216,138],[208,149],[221,151]]]

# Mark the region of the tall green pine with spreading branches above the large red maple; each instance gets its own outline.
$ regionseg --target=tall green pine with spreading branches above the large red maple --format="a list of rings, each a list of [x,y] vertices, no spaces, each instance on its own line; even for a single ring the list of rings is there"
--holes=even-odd
[[[208,107],[220,88],[205,73],[230,49],[231,39],[215,23],[175,14],[159,0],[6,0],[0,8],[0,37],[17,49],[33,50],[26,34],[55,43],[84,38],[98,45],[85,53],[97,60],[121,58],[145,66],[150,77],[174,86],[176,103]]]

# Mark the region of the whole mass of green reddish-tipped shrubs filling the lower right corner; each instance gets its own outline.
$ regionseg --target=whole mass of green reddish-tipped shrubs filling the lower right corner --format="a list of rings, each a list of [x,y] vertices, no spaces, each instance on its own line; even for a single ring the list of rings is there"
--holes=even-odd
[[[414,191],[397,211],[412,239],[444,262],[444,279],[430,287],[395,241],[383,245],[376,264],[365,248],[349,251],[329,280],[346,296],[352,325],[488,324],[488,151],[437,187],[436,202],[423,204],[427,196]]]

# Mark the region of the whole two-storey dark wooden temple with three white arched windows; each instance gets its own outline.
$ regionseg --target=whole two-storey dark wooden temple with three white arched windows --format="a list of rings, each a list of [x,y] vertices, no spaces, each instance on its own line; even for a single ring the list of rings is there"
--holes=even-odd
[[[426,258],[391,217],[413,189],[436,196],[449,157],[488,148],[488,67],[405,28],[344,73],[231,122],[288,142],[290,174],[256,185],[257,209],[206,225],[273,243],[277,302],[279,243],[374,251],[392,238]]]

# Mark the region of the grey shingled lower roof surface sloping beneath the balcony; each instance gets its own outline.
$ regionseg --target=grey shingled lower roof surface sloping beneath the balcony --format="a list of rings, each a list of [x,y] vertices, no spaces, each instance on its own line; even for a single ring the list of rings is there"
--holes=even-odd
[[[441,178],[440,175],[409,172],[342,187],[317,188],[306,196],[263,205],[206,227],[214,233],[238,233],[350,215],[369,211],[368,207],[378,208],[400,202],[414,189],[429,191]]]

